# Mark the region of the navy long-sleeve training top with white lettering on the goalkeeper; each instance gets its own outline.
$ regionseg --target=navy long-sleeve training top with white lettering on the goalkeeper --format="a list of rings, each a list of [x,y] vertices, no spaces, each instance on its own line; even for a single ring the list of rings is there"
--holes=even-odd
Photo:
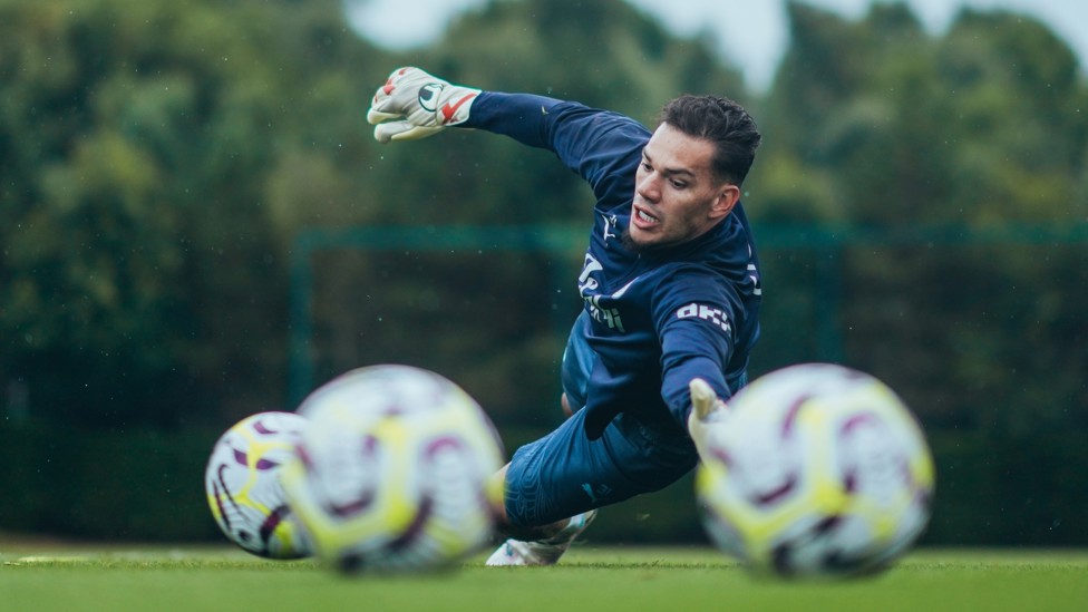
[[[577,282],[582,333],[598,354],[585,396],[589,437],[620,412],[686,431],[696,377],[729,398],[759,336],[759,262],[740,203],[693,241],[635,253],[620,236],[651,135],[643,125],[577,103],[485,91],[462,126],[554,152],[596,196]]]

